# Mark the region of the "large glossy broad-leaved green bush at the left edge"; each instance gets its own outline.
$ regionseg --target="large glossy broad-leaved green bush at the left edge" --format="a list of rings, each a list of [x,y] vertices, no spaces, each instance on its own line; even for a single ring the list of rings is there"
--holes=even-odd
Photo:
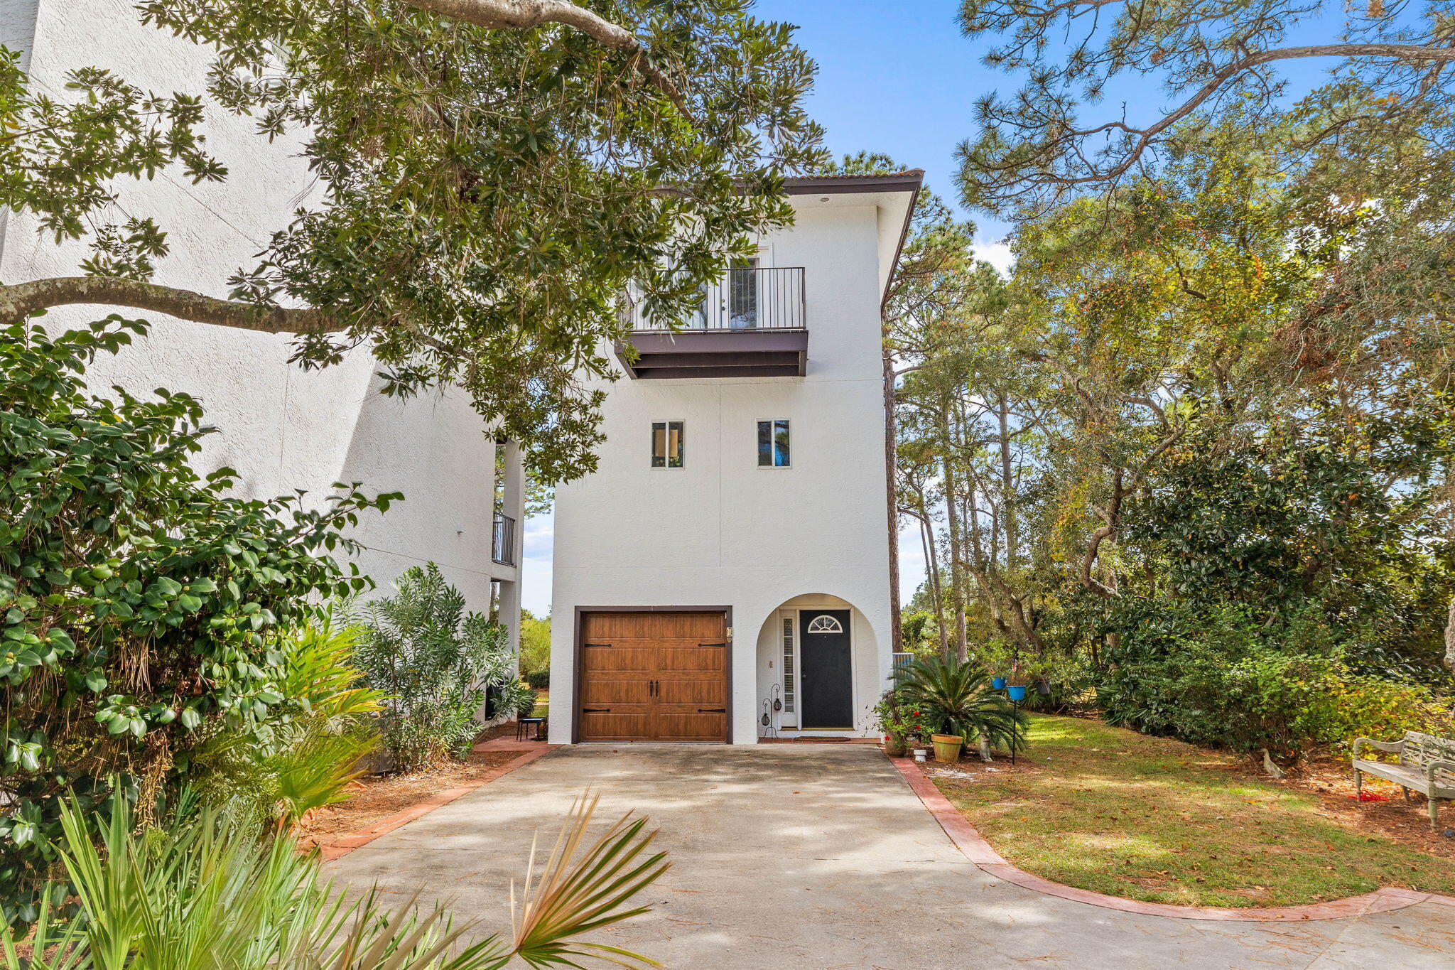
[[[352,548],[339,529],[359,510],[399,497],[228,497],[236,473],[189,464],[212,430],[196,400],[86,393],[86,365],[132,333],[146,326],[118,317],[54,339],[0,329],[6,922],[36,915],[65,793],[83,820],[118,795],[151,804],[220,727],[271,730],[279,631],[367,586],[327,553]]]

